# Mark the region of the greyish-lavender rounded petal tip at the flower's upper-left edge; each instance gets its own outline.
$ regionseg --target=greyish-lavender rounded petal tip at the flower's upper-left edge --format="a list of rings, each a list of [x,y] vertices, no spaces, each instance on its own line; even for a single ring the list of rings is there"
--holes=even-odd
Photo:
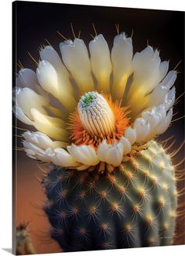
[[[18,79],[24,87],[34,88],[38,84],[38,79],[33,70],[30,68],[23,68],[19,71]]]

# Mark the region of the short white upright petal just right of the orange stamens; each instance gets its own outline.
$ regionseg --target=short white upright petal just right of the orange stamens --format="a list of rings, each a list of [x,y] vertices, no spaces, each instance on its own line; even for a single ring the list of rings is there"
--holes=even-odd
[[[136,141],[144,141],[150,132],[150,123],[145,119],[136,119],[134,122],[134,129],[136,130]]]

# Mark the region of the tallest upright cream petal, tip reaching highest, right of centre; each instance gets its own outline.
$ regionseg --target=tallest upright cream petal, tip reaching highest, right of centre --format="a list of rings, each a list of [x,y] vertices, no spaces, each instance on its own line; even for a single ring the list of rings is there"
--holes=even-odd
[[[132,54],[132,38],[127,38],[125,32],[116,35],[111,50],[113,64],[112,96],[114,99],[121,100],[123,97],[127,79],[131,73]]]

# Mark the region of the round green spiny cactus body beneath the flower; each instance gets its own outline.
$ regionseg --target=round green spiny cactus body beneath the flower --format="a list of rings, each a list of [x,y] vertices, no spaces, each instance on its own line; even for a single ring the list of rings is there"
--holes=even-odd
[[[155,141],[112,174],[55,168],[43,185],[52,237],[63,251],[172,244],[176,179]]]

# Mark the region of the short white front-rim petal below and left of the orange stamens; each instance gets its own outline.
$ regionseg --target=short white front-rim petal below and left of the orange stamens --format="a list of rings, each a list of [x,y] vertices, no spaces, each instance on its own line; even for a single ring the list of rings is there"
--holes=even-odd
[[[78,165],[75,159],[63,148],[55,148],[51,160],[57,166],[69,167]]]

